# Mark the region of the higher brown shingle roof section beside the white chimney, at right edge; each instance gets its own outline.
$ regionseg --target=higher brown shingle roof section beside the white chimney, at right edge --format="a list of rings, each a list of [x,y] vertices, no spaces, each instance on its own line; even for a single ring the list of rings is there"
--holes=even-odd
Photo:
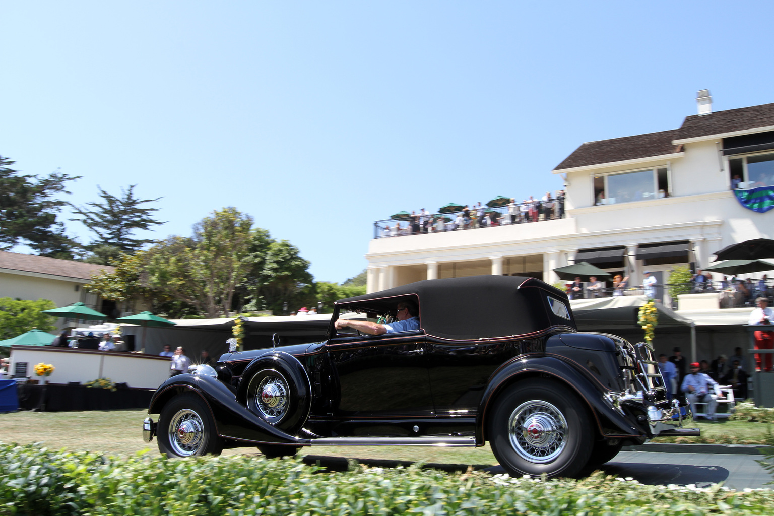
[[[675,139],[720,135],[725,132],[745,131],[772,125],[774,125],[774,104],[727,109],[712,114],[701,116],[694,114],[686,117]]]

